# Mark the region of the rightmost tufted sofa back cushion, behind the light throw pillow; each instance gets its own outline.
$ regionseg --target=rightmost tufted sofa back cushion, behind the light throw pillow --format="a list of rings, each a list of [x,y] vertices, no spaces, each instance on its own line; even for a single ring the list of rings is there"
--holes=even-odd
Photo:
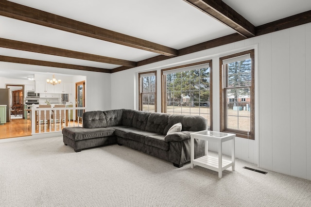
[[[181,123],[181,131],[202,131],[207,129],[207,119],[197,115],[172,114],[164,129],[165,134],[176,123]]]

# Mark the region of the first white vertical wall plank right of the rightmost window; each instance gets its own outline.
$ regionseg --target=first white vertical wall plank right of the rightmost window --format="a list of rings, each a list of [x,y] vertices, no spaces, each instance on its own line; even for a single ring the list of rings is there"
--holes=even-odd
[[[273,169],[273,144],[272,144],[272,34],[260,36],[259,47],[259,108],[260,108],[260,141],[259,141],[259,166]]]

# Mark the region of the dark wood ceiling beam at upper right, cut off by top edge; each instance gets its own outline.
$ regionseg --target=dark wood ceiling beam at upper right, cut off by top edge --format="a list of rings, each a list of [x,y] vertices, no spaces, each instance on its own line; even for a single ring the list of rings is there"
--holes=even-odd
[[[244,37],[255,36],[255,26],[222,0],[184,0],[234,29]]]

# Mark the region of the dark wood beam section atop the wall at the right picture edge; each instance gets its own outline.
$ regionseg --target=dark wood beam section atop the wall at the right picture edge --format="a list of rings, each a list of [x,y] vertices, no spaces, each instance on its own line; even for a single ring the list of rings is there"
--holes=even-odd
[[[296,27],[310,22],[311,22],[311,10],[294,16],[279,19],[267,24],[260,25],[256,27],[256,36],[267,34],[270,32],[276,32],[279,30],[285,30],[291,27]]]

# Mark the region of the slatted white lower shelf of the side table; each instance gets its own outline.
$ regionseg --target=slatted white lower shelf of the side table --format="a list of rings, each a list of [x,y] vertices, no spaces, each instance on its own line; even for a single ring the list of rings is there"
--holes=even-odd
[[[218,158],[217,157],[213,157],[213,156],[203,156],[197,159],[193,160],[193,164],[199,165],[201,167],[205,167],[207,169],[210,170],[214,170],[219,172],[218,169]],[[232,166],[232,161],[226,160],[226,159],[222,159],[222,169],[221,171],[229,168]]]

